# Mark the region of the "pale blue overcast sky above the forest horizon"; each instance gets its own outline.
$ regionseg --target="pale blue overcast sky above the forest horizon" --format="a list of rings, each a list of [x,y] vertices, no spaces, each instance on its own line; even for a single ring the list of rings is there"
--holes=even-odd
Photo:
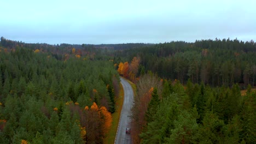
[[[0,37],[25,43],[256,41],[256,1],[1,0]]]

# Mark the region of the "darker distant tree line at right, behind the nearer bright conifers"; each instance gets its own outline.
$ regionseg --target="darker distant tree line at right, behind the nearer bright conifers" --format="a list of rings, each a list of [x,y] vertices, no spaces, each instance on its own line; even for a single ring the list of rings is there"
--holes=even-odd
[[[190,79],[214,87],[256,85],[256,44],[252,40],[171,41],[118,51],[114,56],[115,63],[138,57],[138,74],[150,70],[163,79],[177,79],[183,84]]]

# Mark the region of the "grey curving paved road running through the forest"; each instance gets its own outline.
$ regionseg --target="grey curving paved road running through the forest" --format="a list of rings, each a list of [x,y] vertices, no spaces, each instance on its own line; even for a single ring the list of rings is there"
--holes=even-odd
[[[130,128],[130,113],[131,113],[131,107],[133,104],[133,91],[132,87],[129,82],[127,82],[125,79],[121,78],[121,84],[124,88],[124,104],[121,111],[120,119],[119,119],[119,126],[117,130],[117,135],[115,135],[115,143],[121,144],[121,143],[132,143],[131,141],[131,135],[126,134],[125,130],[126,128]]]

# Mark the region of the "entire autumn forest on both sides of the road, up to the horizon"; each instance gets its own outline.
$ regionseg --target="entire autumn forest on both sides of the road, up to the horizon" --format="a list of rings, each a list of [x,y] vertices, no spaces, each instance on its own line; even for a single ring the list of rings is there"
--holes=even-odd
[[[0,143],[103,143],[119,76],[136,85],[133,143],[256,142],[252,40],[49,45],[2,37],[0,59]]]

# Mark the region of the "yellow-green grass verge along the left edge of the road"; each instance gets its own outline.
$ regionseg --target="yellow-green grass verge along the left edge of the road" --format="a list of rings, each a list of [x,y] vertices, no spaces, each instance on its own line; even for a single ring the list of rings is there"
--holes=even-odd
[[[124,89],[121,83],[119,84],[119,97],[117,97],[115,104],[116,110],[112,113],[112,126],[109,129],[108,134],[106,135],[103,143],[113,144],[115,142],[115,134],[117,133],[118,122],[121,115],[121,110],[124,103]]]

